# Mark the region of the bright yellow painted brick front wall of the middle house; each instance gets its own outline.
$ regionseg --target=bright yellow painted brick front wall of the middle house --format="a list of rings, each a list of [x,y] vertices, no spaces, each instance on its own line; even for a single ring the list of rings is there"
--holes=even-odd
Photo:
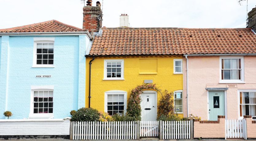
[[[88,107],[89,96],[89,61],[86,58],[86,94],[85,107]],[[125,80],[102,80],[104,73],[104,59],[124,59]],[[157,59],[157,74],[139,74],[139,59]],[[91,108],[104,111],[104,92],[109,90],[123,90],[127,92],[127,100],[130,90],[141,85],[144,79],[153,79],[164,94],[164,90],[183,90],[183,74],[173,74],[173,59],[182,59],[182,56],[114,56],[95,57],[91,64]],[[157,93],[157,101],[161,98]],[[157,102],[157,105],[159,104]],[[183,117],[183,114],[179,114]]]

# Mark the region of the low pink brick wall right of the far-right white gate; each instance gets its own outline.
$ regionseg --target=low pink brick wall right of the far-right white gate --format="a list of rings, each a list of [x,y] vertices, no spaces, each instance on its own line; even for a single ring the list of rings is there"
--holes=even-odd
[[[251,116],[244,116],[247,126],[247,138],[256,138],[256,121]]]

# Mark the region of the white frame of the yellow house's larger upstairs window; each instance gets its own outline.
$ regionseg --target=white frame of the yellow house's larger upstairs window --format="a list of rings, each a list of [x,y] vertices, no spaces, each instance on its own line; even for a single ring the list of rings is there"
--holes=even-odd
[[[108,78],[107,77],[107,63],[109,62],[121,62],[121,77]],[[124,80],[124,59],[104,59],[104,76],[103,80]]]

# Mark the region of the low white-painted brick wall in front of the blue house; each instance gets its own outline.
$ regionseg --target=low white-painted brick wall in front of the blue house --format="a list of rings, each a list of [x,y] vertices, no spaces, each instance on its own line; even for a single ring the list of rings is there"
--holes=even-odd
[[[0,138],[5,135],[69,135],[70,121],[0,120]]]

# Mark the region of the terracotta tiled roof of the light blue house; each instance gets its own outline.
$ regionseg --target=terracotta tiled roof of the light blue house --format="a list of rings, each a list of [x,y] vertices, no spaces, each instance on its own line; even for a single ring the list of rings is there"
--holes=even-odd
[[[71,25],[64,24],[57,20],[40,22],[32,25],[18,26],[9,29],[0,29],[0,32],[72,32],[84,31]]]

